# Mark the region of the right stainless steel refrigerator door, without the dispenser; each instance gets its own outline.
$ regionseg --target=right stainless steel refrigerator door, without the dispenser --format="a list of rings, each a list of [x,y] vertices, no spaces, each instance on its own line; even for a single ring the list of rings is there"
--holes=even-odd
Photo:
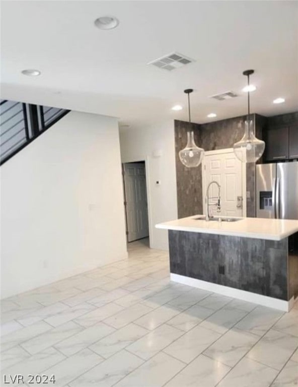
[[[276,209],[279,219],[298,219],[298,161],[277,164]]]

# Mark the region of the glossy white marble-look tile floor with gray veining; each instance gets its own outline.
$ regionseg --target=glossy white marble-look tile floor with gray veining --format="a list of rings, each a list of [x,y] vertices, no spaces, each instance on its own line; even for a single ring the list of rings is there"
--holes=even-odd
[[[282,313],[171,282],[168,253],[146,239],[128,252],[1,302],[1,385],[297,387],[297,302]]]

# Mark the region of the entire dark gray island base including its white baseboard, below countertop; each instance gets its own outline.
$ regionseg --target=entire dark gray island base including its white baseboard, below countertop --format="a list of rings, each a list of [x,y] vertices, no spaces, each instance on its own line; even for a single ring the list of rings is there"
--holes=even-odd
[[[288,311],[298,295],[297,244],[297,234],[268,240],[169,229],[171,279]]]

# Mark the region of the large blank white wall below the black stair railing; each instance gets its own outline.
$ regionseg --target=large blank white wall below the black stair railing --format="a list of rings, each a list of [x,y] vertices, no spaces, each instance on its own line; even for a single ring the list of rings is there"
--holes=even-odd
[[[70,112],[1,167],[2,298],[127,256],[118,123]]]

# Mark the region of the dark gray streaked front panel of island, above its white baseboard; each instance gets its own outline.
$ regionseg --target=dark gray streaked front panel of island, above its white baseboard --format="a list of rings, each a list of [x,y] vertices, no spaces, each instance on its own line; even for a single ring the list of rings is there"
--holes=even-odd
[[[288,239],[271,241],[169,230],[170,271],[288,300]],[[219,274],[219,265],[225,275]]]

